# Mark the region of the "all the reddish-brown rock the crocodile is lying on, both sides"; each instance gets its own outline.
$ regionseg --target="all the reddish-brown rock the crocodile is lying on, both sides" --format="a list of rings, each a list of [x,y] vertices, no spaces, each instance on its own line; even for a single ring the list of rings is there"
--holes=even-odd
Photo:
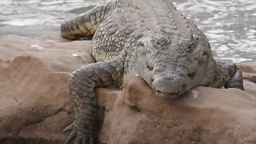
[[[70,72],[94,62],[90,42],[0,38],[0,143],[62,143],[74,119]],[[256,143],[256,63],[242,64],[246,91],[199,86],[173,101],[142,79],[98,89],[102,143]]]

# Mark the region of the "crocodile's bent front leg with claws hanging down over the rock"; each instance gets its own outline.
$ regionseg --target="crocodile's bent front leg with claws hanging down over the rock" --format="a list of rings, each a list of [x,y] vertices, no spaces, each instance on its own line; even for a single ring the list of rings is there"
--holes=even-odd
[[[70,97],[74,103],[75,119],[64,132],[72,130],[66,143],[91,143],[95,118],[97,116],[97,99],[95,88],[121,86],[123,62],[113,60],[97,62],[75,70],[70,76]]]

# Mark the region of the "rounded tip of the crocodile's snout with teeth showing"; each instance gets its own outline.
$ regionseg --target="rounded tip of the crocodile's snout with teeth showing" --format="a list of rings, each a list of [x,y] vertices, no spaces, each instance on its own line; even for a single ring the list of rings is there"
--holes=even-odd
[[[160,97],[175,98],[186,90],[186,80],[180,76],[155,78],[152,87]]]

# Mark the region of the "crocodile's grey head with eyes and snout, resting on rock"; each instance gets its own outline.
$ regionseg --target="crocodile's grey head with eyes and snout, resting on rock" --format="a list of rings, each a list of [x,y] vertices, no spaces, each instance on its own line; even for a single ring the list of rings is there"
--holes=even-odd
[[[213,56],[203,36],[148,34],[138,40],[135,71],[158,96],[175,98],[206,84],[209,62]]]

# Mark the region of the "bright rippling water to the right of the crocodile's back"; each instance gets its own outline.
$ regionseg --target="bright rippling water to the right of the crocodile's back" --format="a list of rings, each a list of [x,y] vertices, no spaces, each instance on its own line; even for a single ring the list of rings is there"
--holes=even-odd
[[[234,62],[256,60],[255,0],[175,0],[205,32],[216,57]]]

